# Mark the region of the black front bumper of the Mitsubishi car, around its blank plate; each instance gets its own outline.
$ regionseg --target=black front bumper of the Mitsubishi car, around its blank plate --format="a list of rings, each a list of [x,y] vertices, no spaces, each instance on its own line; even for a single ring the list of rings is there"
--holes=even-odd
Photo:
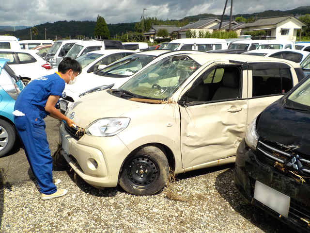
[[[255,182],[259,181],[290,197],[288,217],[279,215],[266,205],[254,199]],[[243,139],[237,149],[235,161],[235,185],[242,197],[270,215],[301,233],[310,232],[310,185],[297,182],[273,167],[262,164]]]

